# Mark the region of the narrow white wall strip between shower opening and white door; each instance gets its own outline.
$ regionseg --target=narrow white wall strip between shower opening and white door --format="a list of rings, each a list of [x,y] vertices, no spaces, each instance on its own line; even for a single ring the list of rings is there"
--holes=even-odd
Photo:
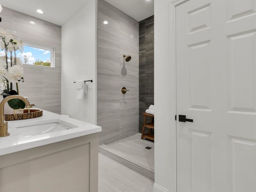
[[[169,3],[155,1],[155,184],[154,192],[176,191],[176,126],[175,126],[175,68],[171,65],[175,55],[170,54]],[[173,139],[174,136],[174,139]]]

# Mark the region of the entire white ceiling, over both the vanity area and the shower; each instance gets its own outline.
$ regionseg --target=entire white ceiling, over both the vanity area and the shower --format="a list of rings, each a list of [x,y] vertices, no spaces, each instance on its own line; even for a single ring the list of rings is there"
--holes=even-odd
[[[154,0],[106,1],[137,21],[154,15]],[[86,0],[0,0],[0,4],[33,17],[62,25],[86,5]],[[37,9],[43,10],[44,13],[37,13]]]

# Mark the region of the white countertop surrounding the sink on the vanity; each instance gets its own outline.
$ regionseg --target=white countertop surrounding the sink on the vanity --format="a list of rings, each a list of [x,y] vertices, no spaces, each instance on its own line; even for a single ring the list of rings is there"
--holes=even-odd
[[[38,108],[33,108],[38,109]],[[69,124],[76,125],[77,128],[62,130],[51,133],[44,133],[40,135],[35,135],[31,137],[25,137],[17,131],[17,124],[30,125],[35,124],[35,122],[44,121],[44,123],[52,122],[52,120],[61,120],[67,122]],[[0,137],[0,156],[29,149],[34,147],[39,147],[42,145],[47,145],[50,143],[68,140],[84,135],[89,135],[92,133],[100,132],[101,127],[86,123],[83,121],[79,121],[73,118],[70,118],[67,115],[59,115],[56,113],[52,113],[49,111],[43,110],[43,116],[33,118],[33,119],[25,119],[18,121],[8,121],[8,132],[10,136]]]

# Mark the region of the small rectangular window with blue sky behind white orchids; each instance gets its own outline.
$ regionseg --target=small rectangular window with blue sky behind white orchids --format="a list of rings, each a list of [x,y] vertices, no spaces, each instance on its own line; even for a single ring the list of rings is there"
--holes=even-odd
[[[25,42],[23,52],[17,51],[16,57],[19,57],[23,64],[55,67],[53,47]]]

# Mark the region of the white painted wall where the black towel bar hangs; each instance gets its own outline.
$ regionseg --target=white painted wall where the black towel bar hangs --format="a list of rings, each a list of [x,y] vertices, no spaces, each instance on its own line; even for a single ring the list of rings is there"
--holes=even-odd
[[[61,114],[96,124],[97,114],[97,1],[88,0],[61,26]],[[88,94],[75,99],[76,80],[86,82]]]

